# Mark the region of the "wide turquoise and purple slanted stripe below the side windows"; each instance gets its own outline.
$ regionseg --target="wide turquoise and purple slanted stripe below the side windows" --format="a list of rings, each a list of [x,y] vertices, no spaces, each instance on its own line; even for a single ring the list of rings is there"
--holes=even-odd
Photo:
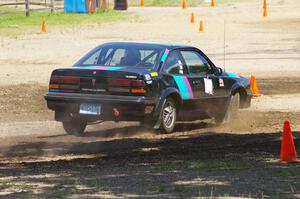
[[[173,78],[176,82],[176,85],[179,89],[182,99],[194,98],[192,87],[186,76],[174,75]]]

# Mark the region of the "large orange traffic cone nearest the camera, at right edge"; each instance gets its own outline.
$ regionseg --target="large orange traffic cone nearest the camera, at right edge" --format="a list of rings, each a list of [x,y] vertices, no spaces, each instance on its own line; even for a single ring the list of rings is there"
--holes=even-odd
[[[283,125],[283,135],[280,149],[280,161],[282,162],[299,162],[294,144],[294,139],[289,121],[285,121]]]

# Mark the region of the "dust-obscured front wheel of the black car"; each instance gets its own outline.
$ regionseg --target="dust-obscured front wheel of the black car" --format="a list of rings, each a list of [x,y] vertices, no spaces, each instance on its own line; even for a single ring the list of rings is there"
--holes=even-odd
[[[227,111],[215,117],[215,123],[218,125],[227,124],[238,118],[240,108],[240,94],[235,93],[231,96]]]

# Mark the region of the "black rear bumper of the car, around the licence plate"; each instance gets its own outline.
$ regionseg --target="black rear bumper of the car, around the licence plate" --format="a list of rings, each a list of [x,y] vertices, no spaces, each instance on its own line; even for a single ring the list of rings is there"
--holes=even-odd
[[[102,120],[116,120],[114,109],[120,115],[118,120],[137,121],[145,116],[153,114],[156,102],[153,99],[144,96],[119,96],[119,95],[95,95],[80,93],[53,93],[48,92],[45,95],[47,106],[56,112],[67,112],[79,114],[81,103],[93,103],[101,105],[101,114],[99,116],[83,115]],[[152,107],[152,111],[151,110]],[[57,120],[61,120],[56,118]]]

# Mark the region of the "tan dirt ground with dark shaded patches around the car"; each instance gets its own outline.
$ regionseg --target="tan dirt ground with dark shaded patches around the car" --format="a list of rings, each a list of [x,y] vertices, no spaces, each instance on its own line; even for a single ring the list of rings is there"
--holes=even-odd
[[[300,165],[278,162],[284,120],[300,153],[300,2],[269,3],[267,18],[250,0],[130,8],[130,21],[0,38],[0,197],[300,198]],[[230,125],[178,123],[163,135],[108,122],[75,137],[46,108],[51,71],[103,42],[191,44],[223,67],[224,21],[226,70],[256,75],[263,94]]]

